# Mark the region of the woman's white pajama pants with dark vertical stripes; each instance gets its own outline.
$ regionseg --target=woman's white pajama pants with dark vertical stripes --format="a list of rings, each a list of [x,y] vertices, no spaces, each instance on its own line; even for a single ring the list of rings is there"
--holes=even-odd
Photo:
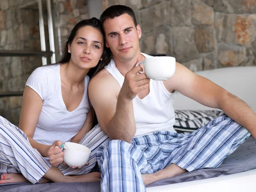
[[[85,134],[80,144],[91,150],[89,166],[81,170],[71,170],[69,166],[58,165],[63,175],[82,175],[89,173],[96,164],[96,151],[102,143],[108,141],[108,136],[96,125]],[[50,169],[51,163],[29,143],[26,135],[0,116],[0,175],[3,173],[22,174],[31,183],[37,183]]]

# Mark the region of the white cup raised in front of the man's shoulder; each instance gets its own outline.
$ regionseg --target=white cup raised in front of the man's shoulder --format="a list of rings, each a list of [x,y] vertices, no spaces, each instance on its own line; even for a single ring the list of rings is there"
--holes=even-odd
[[[136,66],[141,64],[144,64],[145,74],[148,78],[160,81],[170,79],[176,69],[176,59],[168,56],[145,58],[144,61],[137,63]]]

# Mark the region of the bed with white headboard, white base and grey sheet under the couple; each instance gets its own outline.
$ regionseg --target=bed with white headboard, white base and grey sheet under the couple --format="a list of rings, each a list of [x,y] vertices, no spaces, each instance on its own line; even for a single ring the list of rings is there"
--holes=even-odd
[[[256,67],[227,67],[199,71],[205,76],[239,96],[256,111]],[[177,94],[174,108],[181,110],[213,110]],[[146,186],[147,192],[241,192],[255,191],[256,141],[249,137],[216,169],[199,169],[175,177],[159,180]],[[100,192],[100,183],[12,183],[0,185],[0,192]]]

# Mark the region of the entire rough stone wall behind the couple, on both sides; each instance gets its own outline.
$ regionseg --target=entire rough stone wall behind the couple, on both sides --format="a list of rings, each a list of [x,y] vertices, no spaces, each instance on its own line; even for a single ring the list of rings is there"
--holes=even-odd
[[[37,11],[19,8],[32,1],[0,0],[0,49],[41,49]],[[134,9],[143,30],[141,50],[147,54],[174,56],[192,71],[256,64],[256,0],[103,3],[104,7],[123,4]],[[88,18],[87,0],[58,0],[58,5],[63,47],[73,26]],[[58,46],[55,49],[59,51]],[[23,91],[28,76],[41,64],[38,57],[1,57],[0,92]],[[0,98],[0,115],[18,125],[21,103],[21,96]]]

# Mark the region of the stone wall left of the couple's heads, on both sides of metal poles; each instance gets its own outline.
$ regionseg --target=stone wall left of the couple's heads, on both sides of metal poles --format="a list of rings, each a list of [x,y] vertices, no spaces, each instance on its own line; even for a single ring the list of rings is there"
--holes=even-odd
[[[20,9],[35,0],[0,0],[0,49],[41,50],[37,4]],[[43,1],[45,38],[49,50],[47,9]],[[55,0],[52,0],[55,9]],[[58,0],[62,47],[77,22],[87,19],[87,0]],[[55,17],[56,19],[56,17]],[[54,26],[57,32],[57,25]],[[57,39],[55,41],[58,42]],[[55,47],[59,52],[58,46]],[[59,57],[56,58],[57,61]],[[49,63],[50,60],[47,60]],[[23,91],[35,68],[42,66],[41,57],[1,57],[0,92]],[[18,125],[22,96],[0,97],[0,115]]]

